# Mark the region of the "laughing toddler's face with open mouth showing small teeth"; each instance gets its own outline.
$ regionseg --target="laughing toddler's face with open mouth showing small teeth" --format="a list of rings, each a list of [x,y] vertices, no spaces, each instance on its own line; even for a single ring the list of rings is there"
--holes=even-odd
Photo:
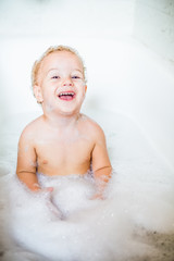
[[[45,110],[72,114],[80,110],[86,88],[80,60],[71,52],[59,51],[41,62],[34,92]]]

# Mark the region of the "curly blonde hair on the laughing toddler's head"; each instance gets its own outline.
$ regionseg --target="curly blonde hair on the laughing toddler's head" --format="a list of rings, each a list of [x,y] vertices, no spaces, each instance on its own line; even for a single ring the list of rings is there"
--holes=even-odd
[[[36,60],[34,65],[33,65],[33,69],[32,69],[32,86],[35,86],[37,84],[37,79],[38,79],[38,72],[39,72],[39,69],[41,66],[41,63],[44,61],[44,59],[46,57],[48,57],[50,53],[52,52],[58,52],[58,51],[67,51],[67,52],[71,52],[73,54],[75,54],[79,61],[82,62],[83,64],[83,73],[84,73],[84,78],[85,78],[85,82],[86,82],[86,67],[84,66],[84,62],[83,62],[83,59],[80,58],[80,55],[78,54],[78,52],[71,48],[71,47],[67,47],[67,46],[53,46],[53,47],[49,47],[45,52],[44,54],[40,57],[40,59]]]

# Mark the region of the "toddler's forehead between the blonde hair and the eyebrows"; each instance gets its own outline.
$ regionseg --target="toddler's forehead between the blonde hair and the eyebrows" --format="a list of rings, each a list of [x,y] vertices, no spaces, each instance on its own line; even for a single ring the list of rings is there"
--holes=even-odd
[[[83,63],[79,58],[69,51],[55,51],[48,54],[40,64],[41,71],[47,71],[50,67],[61,69],[78,69],[83,71]]]

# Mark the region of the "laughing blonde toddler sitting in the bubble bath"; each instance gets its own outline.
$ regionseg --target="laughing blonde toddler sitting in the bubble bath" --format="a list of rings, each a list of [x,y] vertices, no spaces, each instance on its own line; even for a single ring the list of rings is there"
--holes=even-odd
[[[112,169],[103,130],[79,112],[87,90],[80,57],[69,47],[51,47],[35,62],[32,79],[44,114],[21,135],[18,178],[30,190],[40,191],[46,188],[40,187],[37,173],[84,175],[91,167],[97,185],[94,198],[102,198]]]

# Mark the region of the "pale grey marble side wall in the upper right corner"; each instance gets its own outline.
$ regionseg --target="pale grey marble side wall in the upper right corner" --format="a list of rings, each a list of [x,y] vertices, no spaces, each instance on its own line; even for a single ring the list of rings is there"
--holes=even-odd
[[[174,62],[174,1],[137,0],[134,35],[152,50]]]

